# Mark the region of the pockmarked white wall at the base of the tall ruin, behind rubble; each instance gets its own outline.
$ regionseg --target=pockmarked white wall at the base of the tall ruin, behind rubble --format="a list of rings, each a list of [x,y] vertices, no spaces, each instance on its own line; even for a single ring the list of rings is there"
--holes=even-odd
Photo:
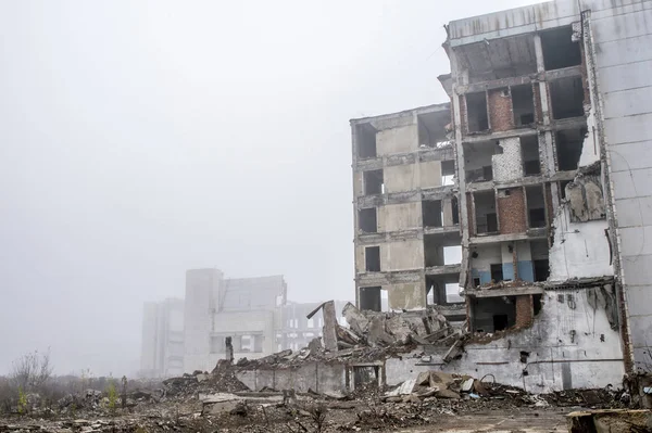
[[[522,351],[529,353],[525,364]],[[387,383],[396,385],[421,371],[441,370],[478,379],[493,374],[500,383],[548,393],[609,384],[619,387],[625,373],[619,334],[611,329],[604,309],[588,304],[586,289],[547,291],[531,328],[491,343],[467,344],[462,358],[450,364],[441,361],[444,352],[436,352],[429,366],[417,365],[421,355],[388,359]],[[527,375],[522,374],[524,370]]]

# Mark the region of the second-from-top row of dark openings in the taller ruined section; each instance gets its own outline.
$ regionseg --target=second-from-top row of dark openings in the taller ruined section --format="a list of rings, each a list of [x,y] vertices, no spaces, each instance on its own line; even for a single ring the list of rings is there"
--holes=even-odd
[[[535,123],[535,93],[532,85],[512,86],[504,89],[467,93],[466,131],[484,132],[498,125],[490,125],[492,106],[487,103],[487,92],[500,92],[500,98],[507,98],[512,103],[512,123],[514,128],[531,127]],[[584,116],[584,84],[579,76],[559,78],[548,82],[550,109],[555,120]],[[502,120],[504,122],[504,120]],[[504,125],[503,125],[504,126]]]

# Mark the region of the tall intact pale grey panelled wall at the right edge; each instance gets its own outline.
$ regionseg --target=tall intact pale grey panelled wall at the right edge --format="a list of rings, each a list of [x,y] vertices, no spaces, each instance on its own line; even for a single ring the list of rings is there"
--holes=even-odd
[[[636,367],[651,370],[652,4],[589,3]]]

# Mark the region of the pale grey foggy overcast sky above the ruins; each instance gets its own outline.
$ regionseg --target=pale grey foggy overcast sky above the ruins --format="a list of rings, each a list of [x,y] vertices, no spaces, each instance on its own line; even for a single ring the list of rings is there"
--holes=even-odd
[[[527,3],[0,2],[0,373],[133,373],[188,268],[352,300],[349,119],[444,102],[442,25]]]

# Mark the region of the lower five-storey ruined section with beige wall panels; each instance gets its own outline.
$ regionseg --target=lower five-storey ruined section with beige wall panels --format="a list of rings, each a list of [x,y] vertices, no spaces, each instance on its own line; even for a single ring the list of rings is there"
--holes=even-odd
[[[351,120],[355,208],[355,286],[362,309],[460,304],[455,152],[449,104]]]

